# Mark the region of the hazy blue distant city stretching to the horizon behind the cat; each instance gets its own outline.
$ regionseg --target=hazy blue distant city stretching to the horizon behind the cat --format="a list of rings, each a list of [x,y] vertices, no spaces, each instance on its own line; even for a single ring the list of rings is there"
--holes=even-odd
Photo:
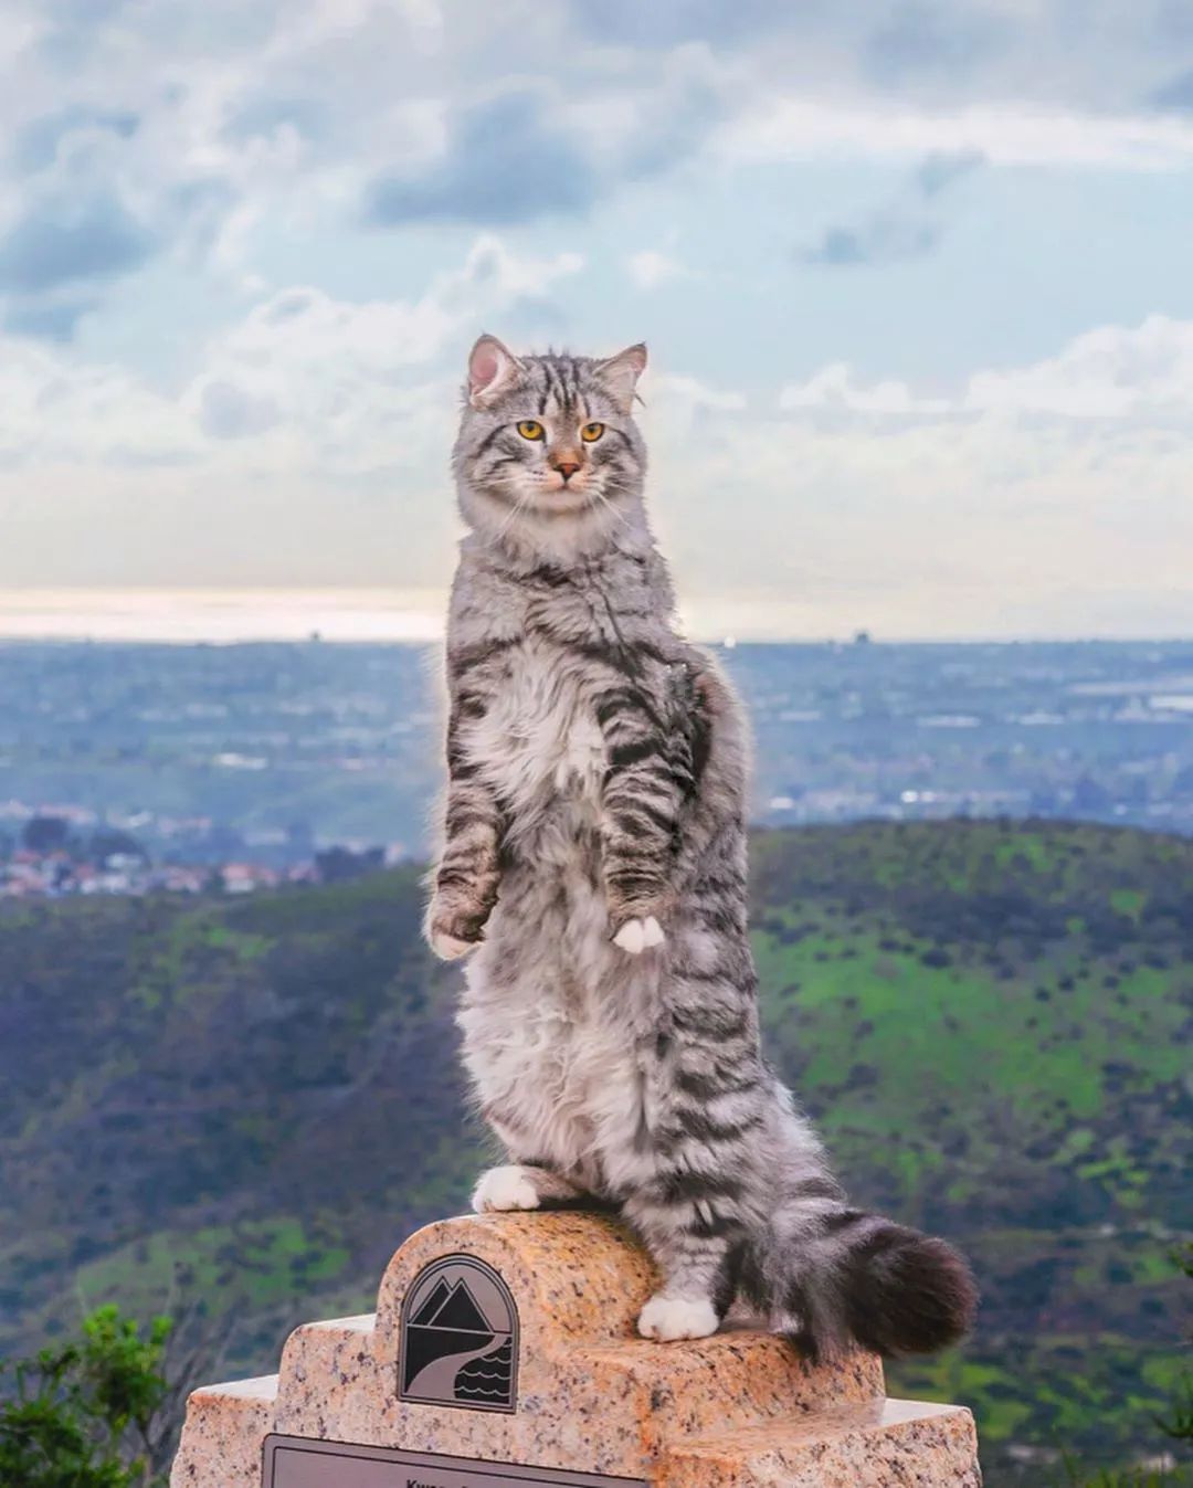
[[[760,824],[1193,833],[1193,641],[718,650]],[[0,644],[0,897],[251,893],[421,857],[437,671],[414,644]]]

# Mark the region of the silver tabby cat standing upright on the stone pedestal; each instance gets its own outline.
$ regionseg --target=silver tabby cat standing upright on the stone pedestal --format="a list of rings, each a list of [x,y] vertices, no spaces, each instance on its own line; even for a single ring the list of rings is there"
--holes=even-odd
[[[475,1205],[616,1205],[662,1278],[647,1338],[711,1333],[741,1299],[811,1351],[934,1350],[970,1323],[965,1263],[849,1205],[759,1049],[747,735],[672,619],[644,366],[492,336],[469,360],[427,936],[472,952],[464,1059],[509,1153]]]

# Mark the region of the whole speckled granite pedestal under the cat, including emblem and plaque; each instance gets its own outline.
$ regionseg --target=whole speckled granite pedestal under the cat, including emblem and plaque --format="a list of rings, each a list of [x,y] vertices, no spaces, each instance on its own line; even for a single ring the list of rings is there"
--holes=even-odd
[[[968,1411],[888,1400],[870,1354],[817,1366],[733,1329],[647,1342],[652,1289],[602,1217],[430,1225],[375,1314],[308,1323],[277,1375],[190,1396],[171,1488],[980,1485]]]

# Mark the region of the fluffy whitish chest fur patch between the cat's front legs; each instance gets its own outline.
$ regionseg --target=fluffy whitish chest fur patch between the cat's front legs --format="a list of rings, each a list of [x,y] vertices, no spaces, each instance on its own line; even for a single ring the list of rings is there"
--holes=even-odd
[[[555,647],[528,641],[510,656],[473,748],[494,786],[516,805],[598,799],[605,745],[592,689]]]

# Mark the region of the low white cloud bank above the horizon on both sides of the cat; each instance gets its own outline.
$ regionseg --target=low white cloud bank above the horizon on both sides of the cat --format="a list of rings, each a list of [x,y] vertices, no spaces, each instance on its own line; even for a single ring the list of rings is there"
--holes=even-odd
[[[446,580],[457,350],[577,271],[482,237],[418,298],[280,292],[181,396],[0,342],[0,582],[34,554],[42,583]],[[1192,394],[1193,321],[1160,317],[948,396],[829,366],[775,409],[652,373],[653,513],[698,613],[739,595],[788,634],[1175,634]]]

